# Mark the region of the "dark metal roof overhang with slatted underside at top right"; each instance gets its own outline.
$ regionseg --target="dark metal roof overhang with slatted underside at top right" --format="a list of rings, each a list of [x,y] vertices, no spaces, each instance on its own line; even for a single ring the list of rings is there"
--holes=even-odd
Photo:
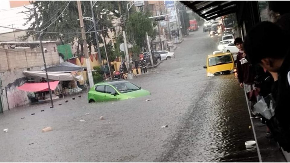
[[[235,13],[236,1],[180,1],[205,20]]]

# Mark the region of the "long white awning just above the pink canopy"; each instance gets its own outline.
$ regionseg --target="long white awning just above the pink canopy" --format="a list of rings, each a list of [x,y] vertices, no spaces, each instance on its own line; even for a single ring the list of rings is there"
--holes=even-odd
[[[46,78],[46,73],[44,71],[23,71],[27,76],[37,76]],[[65,72],[47,72],[48,78],[57,81],[68,81],[68,80],[83,80],[82,75],[74,76],[71,73]]]

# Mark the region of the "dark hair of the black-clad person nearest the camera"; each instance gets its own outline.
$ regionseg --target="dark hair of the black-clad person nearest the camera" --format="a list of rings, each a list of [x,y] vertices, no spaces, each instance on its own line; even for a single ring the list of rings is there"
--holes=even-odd
[[[252,64],[264,58],[282,59],[289,46],[287,34],[276,24],[269,21],[258,23],[246,35],[244,48]]]

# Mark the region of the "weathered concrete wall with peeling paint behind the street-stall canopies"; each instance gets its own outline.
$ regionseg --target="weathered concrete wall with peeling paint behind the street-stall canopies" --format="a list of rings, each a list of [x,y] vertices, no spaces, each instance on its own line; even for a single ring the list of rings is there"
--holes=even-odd
[[[55,43],[43,44],[47,48],[45,54],[47,66],[60,63]],[[18,86],[27,82],[23,71],[29,68],[33,71],[43,69],[43,58],[40,48],[36,49],[0,49],[0,80],[2,87],[0,96],[3,110],[28,104],[27,92],[19,91]],[[37,80],[38,81],[38,80]]]

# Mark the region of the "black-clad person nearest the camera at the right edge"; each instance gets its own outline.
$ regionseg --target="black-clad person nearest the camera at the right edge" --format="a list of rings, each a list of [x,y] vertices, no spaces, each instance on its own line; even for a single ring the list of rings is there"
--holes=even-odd
[[[251,63],[266,69],[273,77],[275,115],[267,122],[274,139],[290,152],[290,55],[289,36],[272,22],[260,22],[247,34],[244,47]]]

